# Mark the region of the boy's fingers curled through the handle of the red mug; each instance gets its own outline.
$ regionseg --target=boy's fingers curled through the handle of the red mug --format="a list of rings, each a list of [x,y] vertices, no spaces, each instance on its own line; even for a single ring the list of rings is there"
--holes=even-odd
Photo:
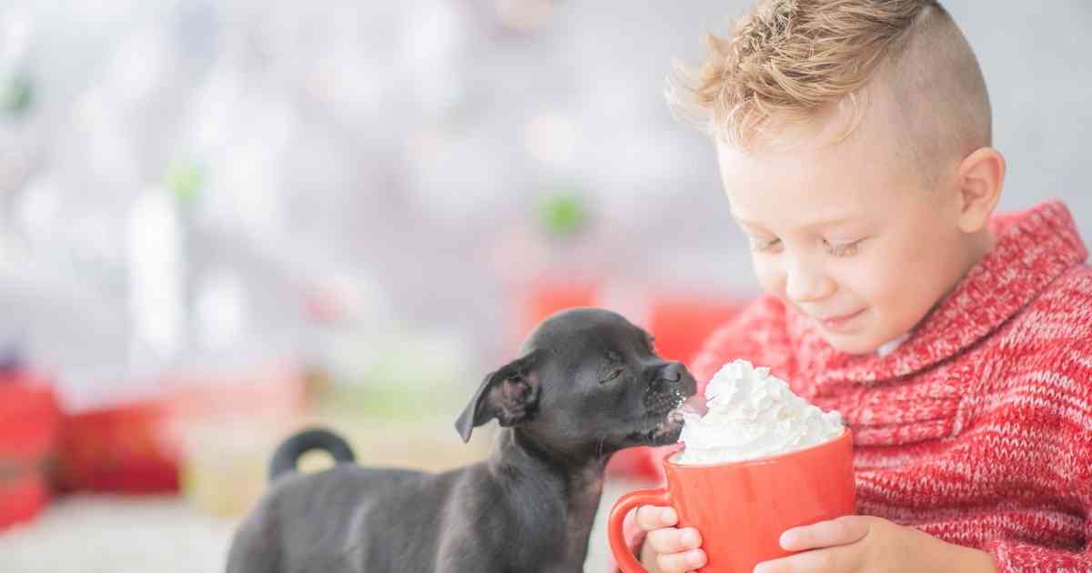
[[[705,552],[698,549],[701,534],[693,527],[677,529],[675,510],[642,505],[634,513],[638,527],[648,532],[642,561],[649,559],[649,551],[652,551],[663,573],[686,573],[705,564]]]

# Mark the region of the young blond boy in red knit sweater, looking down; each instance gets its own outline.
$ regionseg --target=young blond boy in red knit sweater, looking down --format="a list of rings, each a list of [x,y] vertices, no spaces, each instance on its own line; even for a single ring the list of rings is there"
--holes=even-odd
[[[1060,203],[992,217],[1006,164],[950,15],[765,1],[692,80],[674,103],[708,119],[767,291],[692,371],[772,367],[856,443],[860,515],[756,571],[1092,571],[1092,270]],[[650,569],[704,564],[676,523],[630,516]]]

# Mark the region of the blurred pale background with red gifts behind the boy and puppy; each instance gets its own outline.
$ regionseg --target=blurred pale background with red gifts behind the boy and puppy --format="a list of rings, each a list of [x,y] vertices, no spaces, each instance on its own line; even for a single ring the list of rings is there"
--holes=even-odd
[[[1060,198],[1092,237],[1092,4],[945,3],[1001,208]],[[560,308],[688,359],[757,286],[661,94],[744,5],[5,0],[0,570],[218,571],[304,423],[368,464],[478,459],[452,421]],[[605,504],[657,476],[610,477]]]

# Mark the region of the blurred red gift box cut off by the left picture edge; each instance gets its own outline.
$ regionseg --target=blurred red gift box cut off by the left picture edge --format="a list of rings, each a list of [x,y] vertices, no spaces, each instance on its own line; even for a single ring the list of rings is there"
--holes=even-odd
[[[60,410],[52,386],[25,371],[0,373],[0,527],[49,501]]]

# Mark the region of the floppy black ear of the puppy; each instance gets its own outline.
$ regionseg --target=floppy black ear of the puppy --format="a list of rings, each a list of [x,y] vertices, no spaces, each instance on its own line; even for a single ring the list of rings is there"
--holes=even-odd
[[[538,406],[538,373],[535,366],[541,356],[541,350],[535,350],[485,377],[466,409],[455,420],[455,429],[463,442],[470,441],[474,428],[494,418],[501,426],[513,426],[531,419]]]

